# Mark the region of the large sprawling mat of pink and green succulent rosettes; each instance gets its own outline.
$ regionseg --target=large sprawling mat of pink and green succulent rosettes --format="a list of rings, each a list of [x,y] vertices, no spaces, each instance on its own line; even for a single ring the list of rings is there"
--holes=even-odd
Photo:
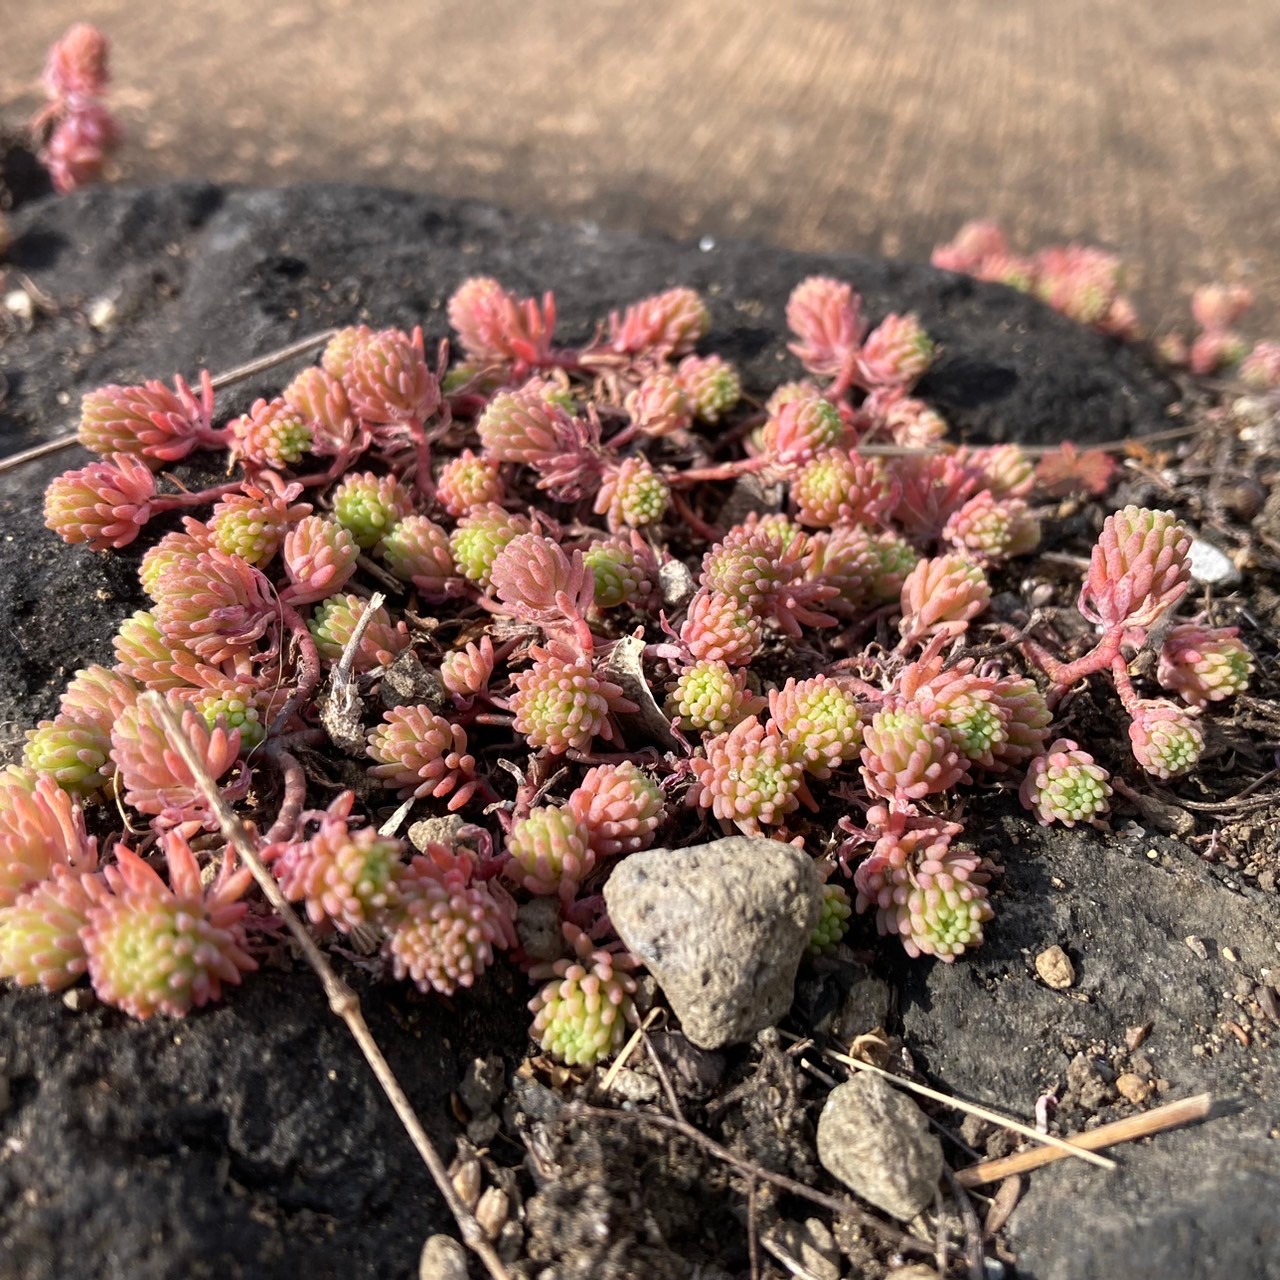
[[[1085,276],[1114,284],[1102,268],[1059,275],[1078,271],[1084,297]],[[1115,308],[1107,294],[1098,314]],[[992,915],[964,788],[1020,785],[1043,823],[1106,813],[1107,773],[1052,732],[1073,685],[1111,677],[1137,763],[1162,778],[1248,681],[1235,631],[1165,626],[1188,535],[1144,508],[1108,517],[1094,549],[1089,653],[1021,634],[966,653],[973,628],[1000,636],[993,576],[1036,549],[1043,489],[1018,445],[946,443],[915,394],[928,334],[910,315],[872,326],[845,282],[796,287],[804,378],[759,412],[698,349],[710,316],[691,289],[580,347],[556,344],[550,294],[492,279],[465,282],[448,315],[452,365],[428,362],[420,329],[352,326],[229,420],[207,374],[84,397],[97,457],[50,485],[50,529],[105,554],[170,520],[115,666],[78,672],[0,774],[0,974],[56,989],[87,973],[148,1016],[252,968],[268,909],[146,691],[320,934],[356,934],[440,993],[509,951],[544,983],[535,1038],[589,1064],[635,1018],[635,960],[602,914],[617,859],[733,831],[803,844],[826,881],[815,952],[858,910],[952,960]],[[175,486],[161,468],[193,451],[229,454],[232,479]],[[754,509],[728,517],[731,497]],[[1176,701],[1129,673],[1157,623]],[[365,778],[319,808],[301,759],[326,733]],[[91,808],[96,831],[129,810],[129,831],[150,827],[148,861],[128,844],[100,858]],[[435,819],[416,849],[398,833],[411,815]],[[559,913],[559,957],[520,941],[535,899]]]

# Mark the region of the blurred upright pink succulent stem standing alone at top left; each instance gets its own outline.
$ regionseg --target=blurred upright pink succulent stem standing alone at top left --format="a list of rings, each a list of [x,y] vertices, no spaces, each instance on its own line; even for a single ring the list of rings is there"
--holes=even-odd
[[[49,50],[42,78],[47,102],[31,122],[31,132],[58,192],[97,182],[120,143],[120,127],[102,101],[109,49],[97,27],[78,22]]]

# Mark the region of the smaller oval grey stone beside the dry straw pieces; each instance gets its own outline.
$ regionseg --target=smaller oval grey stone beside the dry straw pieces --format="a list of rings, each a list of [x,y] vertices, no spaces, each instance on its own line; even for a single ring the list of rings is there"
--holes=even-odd
[[[864,1201],[909,1221],[933,1202],[942,1144],[924,1112],[878,1075],[831,1091],[818,1117],[818,1158]]]

